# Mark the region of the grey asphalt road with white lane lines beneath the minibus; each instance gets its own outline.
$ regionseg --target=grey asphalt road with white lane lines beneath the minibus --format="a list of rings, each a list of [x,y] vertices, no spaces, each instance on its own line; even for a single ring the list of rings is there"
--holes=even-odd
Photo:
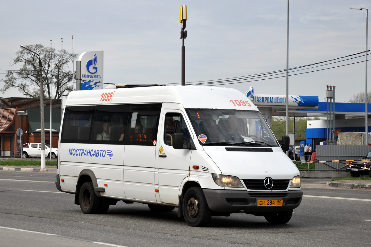
[[[54,182],[55,171],[0,171],[0,246],[370,246],[370,190],[309,183],[288,224],[238,213],[199,228],[178,218],[177,208],[153,213],[139,203],[83,214]]]

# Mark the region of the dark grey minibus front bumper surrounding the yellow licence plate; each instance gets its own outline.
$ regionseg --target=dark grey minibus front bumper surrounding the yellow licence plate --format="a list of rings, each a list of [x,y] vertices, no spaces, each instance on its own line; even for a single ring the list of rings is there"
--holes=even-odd
[[[264,213],[288,211],[299,206],[303,197],[302,190],[284,192],[252,192],[246,190],[203,189],[209,208],[216,212]],[[257,199],[282,199],[281,207],[257,207]]]

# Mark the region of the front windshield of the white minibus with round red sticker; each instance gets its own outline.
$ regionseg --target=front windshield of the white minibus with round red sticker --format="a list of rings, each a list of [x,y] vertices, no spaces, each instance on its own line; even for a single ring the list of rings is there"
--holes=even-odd
[[[259,111],[185,109],[201,145],[279,147]]]

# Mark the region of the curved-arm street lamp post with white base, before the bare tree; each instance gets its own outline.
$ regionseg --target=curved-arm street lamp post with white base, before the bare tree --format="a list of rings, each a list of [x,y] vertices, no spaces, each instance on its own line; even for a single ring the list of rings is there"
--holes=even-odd
[[[41,127],[41,168],[45,169],[45,122],[44,122],[44,87],[42,78],[42,63],[40,54],[31,50],[29,47],[21,45],[22,50],[30,51],[39,57],[39,83],[40,83],[40,127]],[[51,128],[51,127],[50,127]],[[51,151],[51,150],[50,150]]]

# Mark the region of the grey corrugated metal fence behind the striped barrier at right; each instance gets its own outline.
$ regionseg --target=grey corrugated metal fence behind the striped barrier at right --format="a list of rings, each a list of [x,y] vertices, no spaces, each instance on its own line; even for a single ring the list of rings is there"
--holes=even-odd
[[[348,145],[317,145],[316,160],[359,160],[371,151],[371,146],[348,146]],[[316,171],[339,171],[345,170],[345,161],[315,163]]]

